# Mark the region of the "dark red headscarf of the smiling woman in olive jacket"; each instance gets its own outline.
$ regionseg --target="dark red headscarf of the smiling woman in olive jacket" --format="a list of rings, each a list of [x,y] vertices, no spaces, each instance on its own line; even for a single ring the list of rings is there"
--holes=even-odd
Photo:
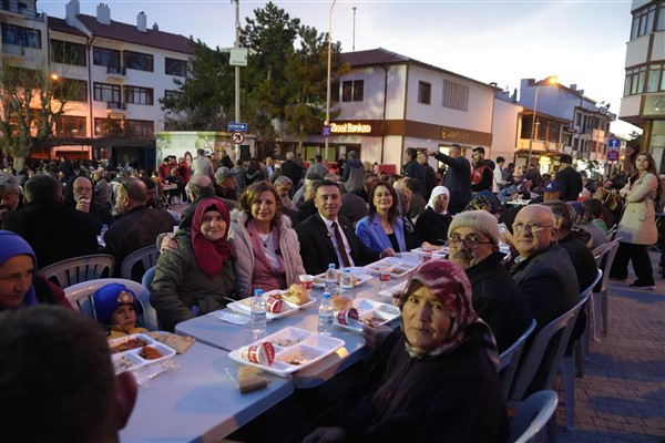
[[[206,239],[201,231],[203,215],[211,210],[211,207],[214,207],[215,210],[219,212],[222,218],[226,222],[224,237],[217,241]],[[231,216],[228,215],[228,208],[222,198],[206,198],[196,206],[194,217],[192,218],[192,245],[194,247],[196,262],[208,277],[221,274],[224,260],[231,258],[233,251],[227,243],[229,227]]]

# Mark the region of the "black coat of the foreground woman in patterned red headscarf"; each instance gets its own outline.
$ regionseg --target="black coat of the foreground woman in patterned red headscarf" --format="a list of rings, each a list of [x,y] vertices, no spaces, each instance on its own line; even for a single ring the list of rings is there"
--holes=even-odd
[[[452,352],[412,359],[401,338],[385,381],[344,419],[349,441],[505,442],[499,375],[472,326]]]

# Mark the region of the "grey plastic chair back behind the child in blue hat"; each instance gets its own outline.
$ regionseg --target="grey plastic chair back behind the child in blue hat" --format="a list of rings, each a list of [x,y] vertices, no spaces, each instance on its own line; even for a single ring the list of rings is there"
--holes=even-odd
[[[139,298],[139,305],[142,308],[142,312],[136,312],[139,322],[150,331],[158,330],[157,312],[150,305],[150,290],[140,282],[124,278],[100,278],[70,286],[64,289],[64,295],[74,309],[96,320],[92,296],[98,289],[109,284],[122,284],[132,290]]]

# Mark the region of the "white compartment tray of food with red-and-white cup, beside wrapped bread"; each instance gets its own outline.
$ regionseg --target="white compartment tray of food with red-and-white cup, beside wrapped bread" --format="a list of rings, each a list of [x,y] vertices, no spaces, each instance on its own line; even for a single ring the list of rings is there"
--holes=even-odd
[[[260,340],[231,351],[238,363],[260,368],[279,377],[308,368],[339,348],[344,340],[299,328],[284,328]]]

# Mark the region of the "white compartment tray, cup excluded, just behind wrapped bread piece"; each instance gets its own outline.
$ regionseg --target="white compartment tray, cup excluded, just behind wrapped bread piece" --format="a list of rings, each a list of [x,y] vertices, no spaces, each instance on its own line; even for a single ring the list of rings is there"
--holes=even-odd
[[[293,372],[315,364],[345,344],[344,340],[336,339],[335,337],[320,336],[304,329],[289,327],[249,343],[249,346],[266,341],[273,343],[275,348],[275,361],[270,365],[243,360],[239,349],[231,351],[228,357],[238,363],[260,368],[275,375],[288,377]],[[298,364],[289,364],[289,362],[299,359],[306,359],[306,361],[301,361]]]

